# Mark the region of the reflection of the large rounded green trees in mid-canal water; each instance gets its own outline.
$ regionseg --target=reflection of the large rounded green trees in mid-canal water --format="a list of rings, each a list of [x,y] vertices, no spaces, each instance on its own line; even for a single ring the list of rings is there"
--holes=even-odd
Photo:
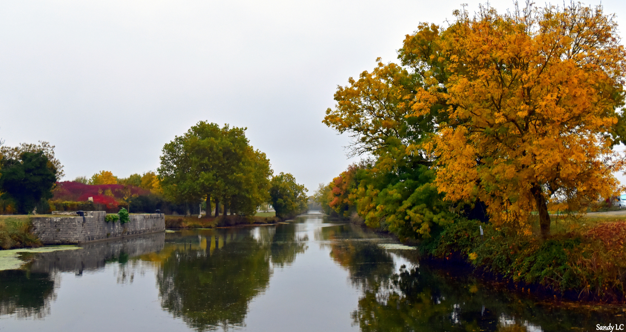
[[[157,275],[162,306],[198,331],[242,326],[248,304],[269,284],[273,266],[294,262],[306,237],[293,225],[168,234]],[[158,257],[157,257],[158,256]]]

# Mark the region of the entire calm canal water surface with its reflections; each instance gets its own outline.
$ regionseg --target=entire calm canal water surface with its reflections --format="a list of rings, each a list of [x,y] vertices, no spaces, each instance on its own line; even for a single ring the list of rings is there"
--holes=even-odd
[[[0,271],[0,331],[595,331],[621,308],[541,304],[394,240],[306,214],[24,254]],[[626,325],[625,325],[626,326]]]

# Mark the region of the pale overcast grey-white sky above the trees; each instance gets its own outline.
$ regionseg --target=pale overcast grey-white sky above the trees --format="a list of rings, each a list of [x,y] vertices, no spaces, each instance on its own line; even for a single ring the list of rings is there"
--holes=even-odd
[[[351,163],[321,123],[336,86],[461,3],[481,2],[3,0],[0,138],[56,145],[64,180],[126,177],[198,121],[230,123],[312,194]],[[626,20],[626,1],[602,3]]]

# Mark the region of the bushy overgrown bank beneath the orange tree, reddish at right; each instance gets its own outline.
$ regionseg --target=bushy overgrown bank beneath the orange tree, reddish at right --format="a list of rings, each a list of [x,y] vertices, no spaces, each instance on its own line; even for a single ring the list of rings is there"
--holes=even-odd
[[[528,292],[624,303],[625,241],[623,217],[554,220],[553,236],[545,241],[537,234],[520,236],[506,227],[458,220],[419,247],[425,256],[466,262]]]

